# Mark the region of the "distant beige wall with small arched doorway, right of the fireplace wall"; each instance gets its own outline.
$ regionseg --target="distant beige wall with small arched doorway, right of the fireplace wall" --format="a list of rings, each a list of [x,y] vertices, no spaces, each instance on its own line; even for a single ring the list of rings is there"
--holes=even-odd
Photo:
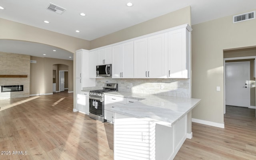
[[[31,60],[37,63],[31,63],[30,66],[30,95],[52,93],[52,69],[55,64],[64,64],[60,66],[68,71],[68,91],[73,91],[73,61],[34,56],[31,56]]]

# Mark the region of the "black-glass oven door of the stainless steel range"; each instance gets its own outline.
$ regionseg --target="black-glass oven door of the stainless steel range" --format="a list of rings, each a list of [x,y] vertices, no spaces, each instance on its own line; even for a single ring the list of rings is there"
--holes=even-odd
[[[91,114],[104,117],[104,103],[102,100],[103,98],[89,97],[89,112]]]

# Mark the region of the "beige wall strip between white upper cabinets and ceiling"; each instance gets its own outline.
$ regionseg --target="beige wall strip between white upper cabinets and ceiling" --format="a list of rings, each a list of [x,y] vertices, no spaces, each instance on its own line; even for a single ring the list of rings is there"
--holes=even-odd
[[[146,22],[142,22],[129,28],[125,28],[112,34],[100,37],[90,41],[90,49],[129,40],[183,24],[189,24],[191,26],[190,12],[190,6],[188,6],[163,16],[159,16],[152,20],[148,20]]]

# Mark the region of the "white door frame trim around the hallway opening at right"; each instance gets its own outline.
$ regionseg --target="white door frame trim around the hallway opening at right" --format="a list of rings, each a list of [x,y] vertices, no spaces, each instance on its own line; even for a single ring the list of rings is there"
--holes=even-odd
[[[254,61],[256,60],[256,56],[247,56],[247,57],[232,57],[232,58],[224,58],[223,59],[223,109],[224,109],[224,114],[226,114],[226,61],[228,60],[239,60],[239,59],[254,59]],[[256,75],[256,67],[254,65],[254,74]],[[249,90],[250,91],[250,90]],[[255,91],[256,91],[256,87],[255,87]],[[256,101],[256,100],[255,100]],[[250,105],[250,103],[249,103]],[[256,117],[256,115],[255,115]]]

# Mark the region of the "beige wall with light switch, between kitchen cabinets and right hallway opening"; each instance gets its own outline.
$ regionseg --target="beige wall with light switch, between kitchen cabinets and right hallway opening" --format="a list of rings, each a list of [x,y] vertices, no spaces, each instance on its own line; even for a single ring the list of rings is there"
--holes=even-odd
[[[255,26],[255,19],[233,24],[232,16],[192,26],[192,97],[202,99],[192,118],[224,123],[223,50],[256,46]]]

